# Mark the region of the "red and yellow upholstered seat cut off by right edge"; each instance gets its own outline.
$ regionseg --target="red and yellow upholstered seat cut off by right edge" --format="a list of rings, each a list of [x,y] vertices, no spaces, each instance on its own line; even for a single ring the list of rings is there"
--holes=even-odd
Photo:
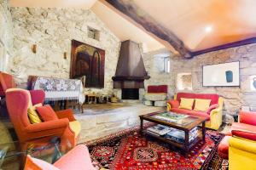
[[[256,169],[256,112],[240,111],[239,122],[218,145],[218,155],[229,159],[230,169]]]

